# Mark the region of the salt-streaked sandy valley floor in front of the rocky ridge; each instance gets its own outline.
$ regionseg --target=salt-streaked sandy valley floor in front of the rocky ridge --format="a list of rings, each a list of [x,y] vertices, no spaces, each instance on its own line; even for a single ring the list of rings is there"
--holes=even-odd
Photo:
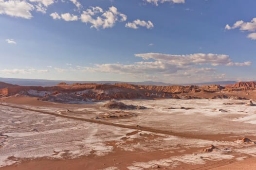
[[[256,106],[223,104],[248,101],[126,100],[149,109],[99,120],[97,115],[113,112],[102,108],[105,102],[55,104],[29,97],[1,102],[27,110],[0,105],[0,170],[256,169],[256,144],[238,140],[256,141]],[[211,144],[218,149],[203,152]]]

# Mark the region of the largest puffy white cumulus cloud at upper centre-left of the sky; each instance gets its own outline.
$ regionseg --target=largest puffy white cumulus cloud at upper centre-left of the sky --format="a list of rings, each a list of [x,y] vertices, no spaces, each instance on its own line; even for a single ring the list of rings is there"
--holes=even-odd
[[[114,24],[119,21],[123,22],[127,20],[127,16],[118,12],[117,8],[111,6],[109,10],[103,11],[101,7],[91,7],[83,11],[81,15],[81,21],[90,23],[91,28],[106,29],[111,28]]]

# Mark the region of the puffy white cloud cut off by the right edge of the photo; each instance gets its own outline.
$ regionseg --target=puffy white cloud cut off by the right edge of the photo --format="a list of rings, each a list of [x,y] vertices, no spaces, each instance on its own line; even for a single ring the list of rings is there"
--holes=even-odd
[[[247,32],[255,32],[256,31],[256,17],[251,20],[251,22],[244,22],[243,20],[239,20],[233,24],[233,26],[226,25],[225,30],[232,30],[239,28],[240,31]],[[247,36],[250,39],[256,39],[256,33],[251,33]]]

